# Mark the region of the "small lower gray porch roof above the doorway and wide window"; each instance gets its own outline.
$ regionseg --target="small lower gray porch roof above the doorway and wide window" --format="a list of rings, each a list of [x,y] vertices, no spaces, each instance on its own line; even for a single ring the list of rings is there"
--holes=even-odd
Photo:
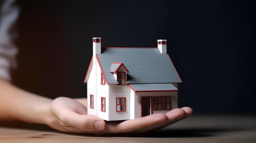
[[[173,84],[130,84],[136,91],[166,91],[178,90]]]

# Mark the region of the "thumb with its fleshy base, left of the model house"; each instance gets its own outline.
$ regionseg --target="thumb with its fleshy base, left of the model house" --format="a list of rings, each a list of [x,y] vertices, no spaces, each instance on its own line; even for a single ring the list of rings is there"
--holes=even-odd
[[[63,128],[73,132],[99,131],[106,127],[103,119],[85,114],[83,105],[70,98],[55,99],[52,102],[52,111],[59,118]]]

